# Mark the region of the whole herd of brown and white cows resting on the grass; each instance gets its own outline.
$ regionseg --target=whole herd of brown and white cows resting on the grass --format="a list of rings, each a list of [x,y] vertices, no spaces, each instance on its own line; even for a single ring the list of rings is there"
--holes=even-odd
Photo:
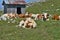
[[[16,13],[6,13],[0,16],[0,21],[8,21],[8,23],[15,22],[17,18],[24,18],[21,20],[18,24],[19,27],[22,28],[36,28],[37,23],[35,20],[42,20],[42,21],[49,21],[49,18],[52,18],[53,20],[60,20],[60,16],[57,14],[51,15],[48,13],[42,13],[42,14],[33,14],[33,13],[25,13],[25,14],[16,14]]]

